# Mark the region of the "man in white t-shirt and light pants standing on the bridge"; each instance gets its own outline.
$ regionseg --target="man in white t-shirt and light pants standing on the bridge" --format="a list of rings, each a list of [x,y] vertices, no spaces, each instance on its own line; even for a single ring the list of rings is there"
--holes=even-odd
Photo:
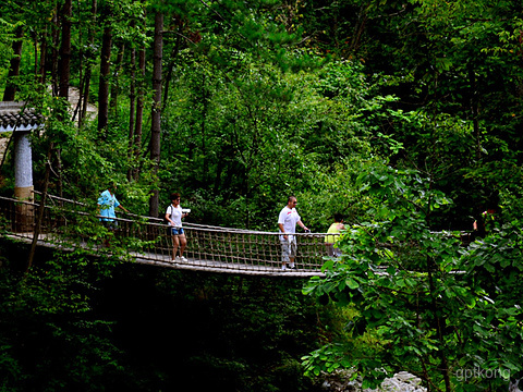
[[[304,231],[309,231],[305,224],[303,224],[300,215],[296,211],[296,197],[289,196],[287,206],[280,211],[278,217],[278,226],[280,228],[280,242],[281,242],[281,269],[289,268],[295,269],[294,258],[296,257],[296,223],[302,226]]]

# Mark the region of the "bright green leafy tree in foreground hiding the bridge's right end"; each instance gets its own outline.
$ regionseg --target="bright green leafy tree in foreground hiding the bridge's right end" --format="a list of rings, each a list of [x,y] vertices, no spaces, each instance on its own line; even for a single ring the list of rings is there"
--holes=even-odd
[[[358,183],[374,199],[372,220],[345,231],[344,256],[304,293],[360,314],[345,340],[304,357],[308,371],[354,368],[369,385],[401,369],[440,390],[504,384],[522,370],[520,222],[463,247],[460,233],[431,230],[433,211],[450,200],[418,173],[376,168]],[[463,379],[471,369],[498,377]]]

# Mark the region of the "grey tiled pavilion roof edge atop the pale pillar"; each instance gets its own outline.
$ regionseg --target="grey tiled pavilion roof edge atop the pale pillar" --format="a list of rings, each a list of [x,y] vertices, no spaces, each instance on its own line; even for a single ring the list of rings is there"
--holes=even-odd
[[[44,117],[24,107],[24,102],[0,102],[0,132],[32,131],[42,125]]]

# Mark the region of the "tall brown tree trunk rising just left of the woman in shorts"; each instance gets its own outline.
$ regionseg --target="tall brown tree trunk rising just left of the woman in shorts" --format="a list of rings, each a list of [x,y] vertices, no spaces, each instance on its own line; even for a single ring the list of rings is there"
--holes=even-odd
[[[155,41],[153,60],[153,112],[150,127],[150,159],[155,164],[155,176],[160,164],[160,135],[161,135],[161,61],[163,51],[163,14],[157,11],[155,16]],[[158,188],[153,189],[149,199],[149,216],[158,217]]]

